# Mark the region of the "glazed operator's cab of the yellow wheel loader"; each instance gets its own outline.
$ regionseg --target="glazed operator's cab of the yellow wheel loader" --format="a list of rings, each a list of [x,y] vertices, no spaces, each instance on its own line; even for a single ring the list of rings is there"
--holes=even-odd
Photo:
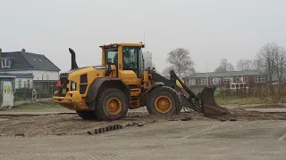
[[[144,68],[143,47],[144,44],[141,43],[103,45],[102,64],[107,65],[109,62],[115,65],[117,72],[133,71],[137,78],[141,78]]]

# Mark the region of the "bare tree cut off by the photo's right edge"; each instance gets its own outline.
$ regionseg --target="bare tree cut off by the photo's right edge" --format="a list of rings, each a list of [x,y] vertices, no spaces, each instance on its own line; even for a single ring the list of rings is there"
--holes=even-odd
[[[275,60],[275,71],[279,81],[279,93],[281,91],[281,83],[283,73],[286,71],[286,50],[284,47],[279,47]],[[279,94],[280,95],[280,94]]]

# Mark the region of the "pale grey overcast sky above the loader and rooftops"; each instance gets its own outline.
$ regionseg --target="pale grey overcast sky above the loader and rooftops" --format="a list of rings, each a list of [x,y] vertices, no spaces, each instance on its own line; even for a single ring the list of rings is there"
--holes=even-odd
[[[0,48],[45,54],[71,68],[99,65],[99,45],[140,42],[156,68],[176,47],[191,53],[198,72],[213,71],[221,58],[253,59],[271,42],[286,46],[284,0],[0,0]]]

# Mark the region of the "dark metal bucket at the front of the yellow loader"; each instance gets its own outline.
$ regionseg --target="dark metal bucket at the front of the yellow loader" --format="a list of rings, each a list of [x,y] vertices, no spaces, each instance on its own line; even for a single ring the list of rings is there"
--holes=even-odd
[[[204,90],[199,93],[202,112],[205,116],[222,116],[230,113],[227,108],[222,108],[215,102],[215,89],[216,87],[205,87]]]

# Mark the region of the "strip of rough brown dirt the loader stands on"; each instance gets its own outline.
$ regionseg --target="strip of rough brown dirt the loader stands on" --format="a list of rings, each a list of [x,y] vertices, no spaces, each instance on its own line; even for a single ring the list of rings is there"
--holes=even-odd
[[[230,108],[231,114],[220,117],[206,117],[197,112],[181,112],[177,116],[151,116],[147,112],[131,110],[126,118],[114,122],[82,120],[74,112],[46,115],[0,115],[0,136],[24,135],[26,137],[46,135],[84,135],[88,131],[111,124],[130,127],[132,124],[154,124],[171,121],[254,121],[254,120],[286,120],[286,113],[263,113],[248,111],[245,108]],[[11,112],[13,113],[13,112]]]

